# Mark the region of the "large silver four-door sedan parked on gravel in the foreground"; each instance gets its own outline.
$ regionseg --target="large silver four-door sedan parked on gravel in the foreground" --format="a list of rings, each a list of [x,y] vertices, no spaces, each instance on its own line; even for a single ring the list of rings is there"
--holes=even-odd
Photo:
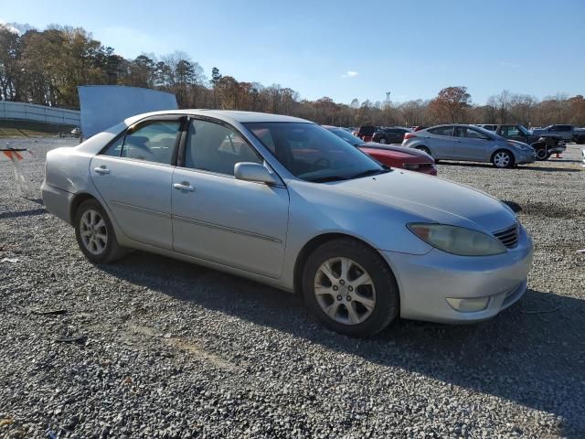
[[[138,115],[50,151],[42,194],[91,262],[136,249],[239,274],[303,294],[351,336],[398,316],[495,316],[525,293],[532,261],[499,200],[281,115]]]

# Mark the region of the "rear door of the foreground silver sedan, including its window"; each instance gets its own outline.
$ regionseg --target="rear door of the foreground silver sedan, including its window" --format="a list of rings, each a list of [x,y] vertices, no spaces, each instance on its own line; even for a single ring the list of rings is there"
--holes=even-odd
[[[122,232],[172,249],[171,187],[180,116],[130,127],[90,163],[90,176]]]

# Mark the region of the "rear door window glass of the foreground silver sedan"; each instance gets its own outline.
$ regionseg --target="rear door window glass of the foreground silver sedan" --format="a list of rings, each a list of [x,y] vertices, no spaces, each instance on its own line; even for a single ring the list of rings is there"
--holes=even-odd
[[[180,121],[154,121],[126,134],[122,157],[171,165]]]

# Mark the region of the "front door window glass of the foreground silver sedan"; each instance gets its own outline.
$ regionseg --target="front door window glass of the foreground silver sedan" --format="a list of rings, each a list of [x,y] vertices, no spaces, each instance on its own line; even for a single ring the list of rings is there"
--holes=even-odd
[[[186,167],[233,176],[234,166],[240,162],[262,164],[263,160],[228,126],[199,120],[191,123],[185,146]]]

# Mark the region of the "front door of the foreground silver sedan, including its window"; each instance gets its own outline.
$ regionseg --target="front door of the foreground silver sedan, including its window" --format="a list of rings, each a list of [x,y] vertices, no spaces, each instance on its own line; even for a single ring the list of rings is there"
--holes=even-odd
[[[184,154],[173,177],[175,251],[278,278],[288,228],[286,187],[234,177],[237,163],[263,160],[225,123],[192,120]]]

